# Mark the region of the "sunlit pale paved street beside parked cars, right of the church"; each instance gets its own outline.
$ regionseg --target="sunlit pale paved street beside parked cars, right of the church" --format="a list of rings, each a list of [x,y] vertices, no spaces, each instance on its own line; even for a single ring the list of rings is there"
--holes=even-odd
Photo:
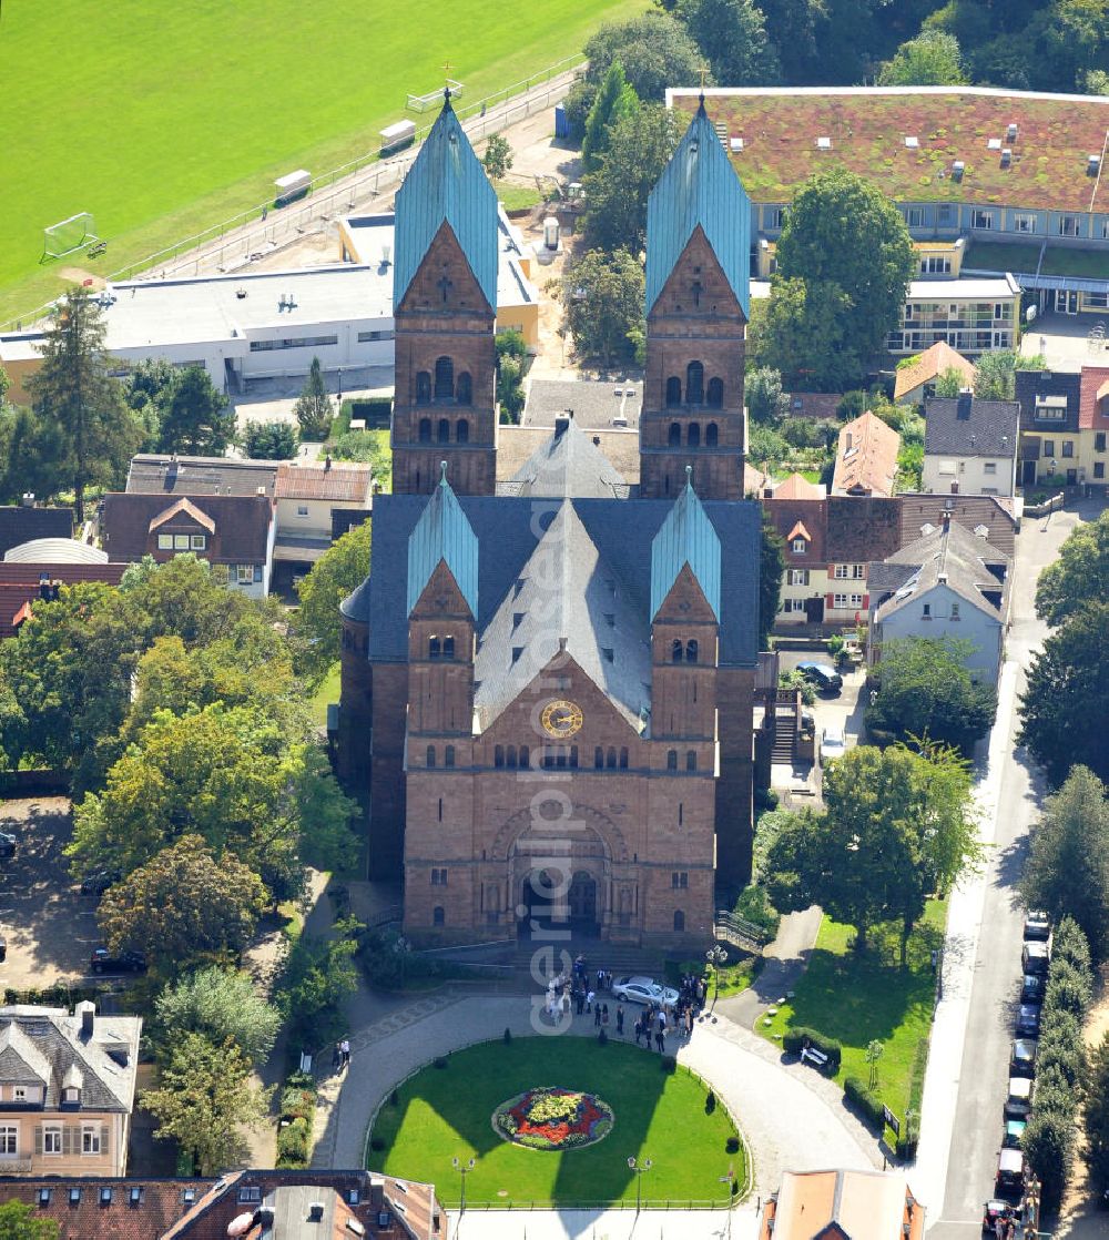
[[[1095,508],[1085,505],[1082,516]],[[1057,556],[1078,523],[1074,511],[1047,520],[1026,520],[1017,538],[1012,629],[1007,658],[1015,692],[1009,697],[999,780],[995,847],[985,874],[978,951],[974,959],[969,1013],[958,1079],[954,1125],[946,1158],[943,1209],[929,1204],[932,1240],[966,1240],[980,1225],[982,1202],[992,1195],[994,1171],[1001,1145],[1001,1106],[1009,1076],[1009,1047],[1020,985],[1022,910],[1016,882],[1027,848],[1028,828],[1043,792],[1040,775],[1016,745],[1016,707],[1025,673],[1047,632],[1035,615],[1035,584],[1040,570]],[[951,962],[949,975],[958,975]]]

